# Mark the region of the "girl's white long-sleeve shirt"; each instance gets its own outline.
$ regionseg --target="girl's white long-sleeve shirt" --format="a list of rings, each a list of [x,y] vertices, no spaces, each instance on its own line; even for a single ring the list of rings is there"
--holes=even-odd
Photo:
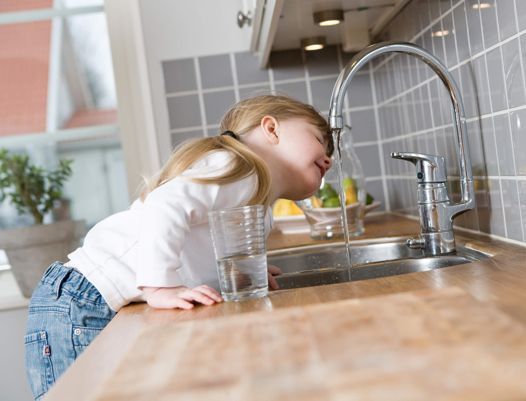
[[[257,178],[252,174],[222,186],[185,178],[216,177],[230,168],[229,153],[210,153],[151,191],[144,203],[136,200],[130,209],[96,224],[67,264],[86,276],[114,311],[145,301],[143,286],[208,284],[219,291],[207,212],[246,205]],[[272,224],[269,208],[266,237]]]

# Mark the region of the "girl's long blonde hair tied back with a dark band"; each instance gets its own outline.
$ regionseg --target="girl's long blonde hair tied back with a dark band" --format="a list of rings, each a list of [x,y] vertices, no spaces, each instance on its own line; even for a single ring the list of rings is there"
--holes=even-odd
[[[148,193],[174,179],[210,152],[227,151],[232,156],[232,168],[218,177],[189,178],[203,184],[224,185],[256,174],[257,187],[247,205],[262,204],[267,210],[270,205],[270,170],[267,163],[247,146],[246,135],[261,124],[265,116],[276,120],[304,118],[327,137],[327,156],[332,155],[333,143],[329,125],[325,118],[310,105],[288,96],[261,95],[241,100],[227,111],[221,119],[219,132],[235,133],[237,139],[228,135],[208,138],[192,138],[180,143],[170,154],[163,168],[151,179],[145,177],[139,189],[139,199],[144,202]]]

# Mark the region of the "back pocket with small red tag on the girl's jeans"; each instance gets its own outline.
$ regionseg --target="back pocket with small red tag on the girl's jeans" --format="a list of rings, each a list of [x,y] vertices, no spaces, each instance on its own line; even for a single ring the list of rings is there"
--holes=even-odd
[[[47,332],[36,332],[24,337],[26,348],[26,373],[33,392],[37,399],[53,386],[53,367],[51,364],[51,349],[47,343]]]

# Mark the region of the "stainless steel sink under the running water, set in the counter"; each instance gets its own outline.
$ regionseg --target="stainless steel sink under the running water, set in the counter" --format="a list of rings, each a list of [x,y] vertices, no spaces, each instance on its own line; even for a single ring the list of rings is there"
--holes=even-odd
[[[461,245],[454,254],[424,257],[421,251],[407,248],[401,240],[353,244],[352,281],[428,271],[491,257]],[[345,243],[269,251],[267,263],[284,272],[276,277],[280,290],[350,281]]]

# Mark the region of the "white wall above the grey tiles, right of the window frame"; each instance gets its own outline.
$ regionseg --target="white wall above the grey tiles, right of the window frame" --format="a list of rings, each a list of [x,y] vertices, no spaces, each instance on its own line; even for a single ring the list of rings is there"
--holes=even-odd
[[[161,158],[171,145],[161,61],[248,51],[252,28],[245,25],[240,29],[236,18],[239,11],[246,13],[247,4],[252,3],[246,0],[139,0]]]

